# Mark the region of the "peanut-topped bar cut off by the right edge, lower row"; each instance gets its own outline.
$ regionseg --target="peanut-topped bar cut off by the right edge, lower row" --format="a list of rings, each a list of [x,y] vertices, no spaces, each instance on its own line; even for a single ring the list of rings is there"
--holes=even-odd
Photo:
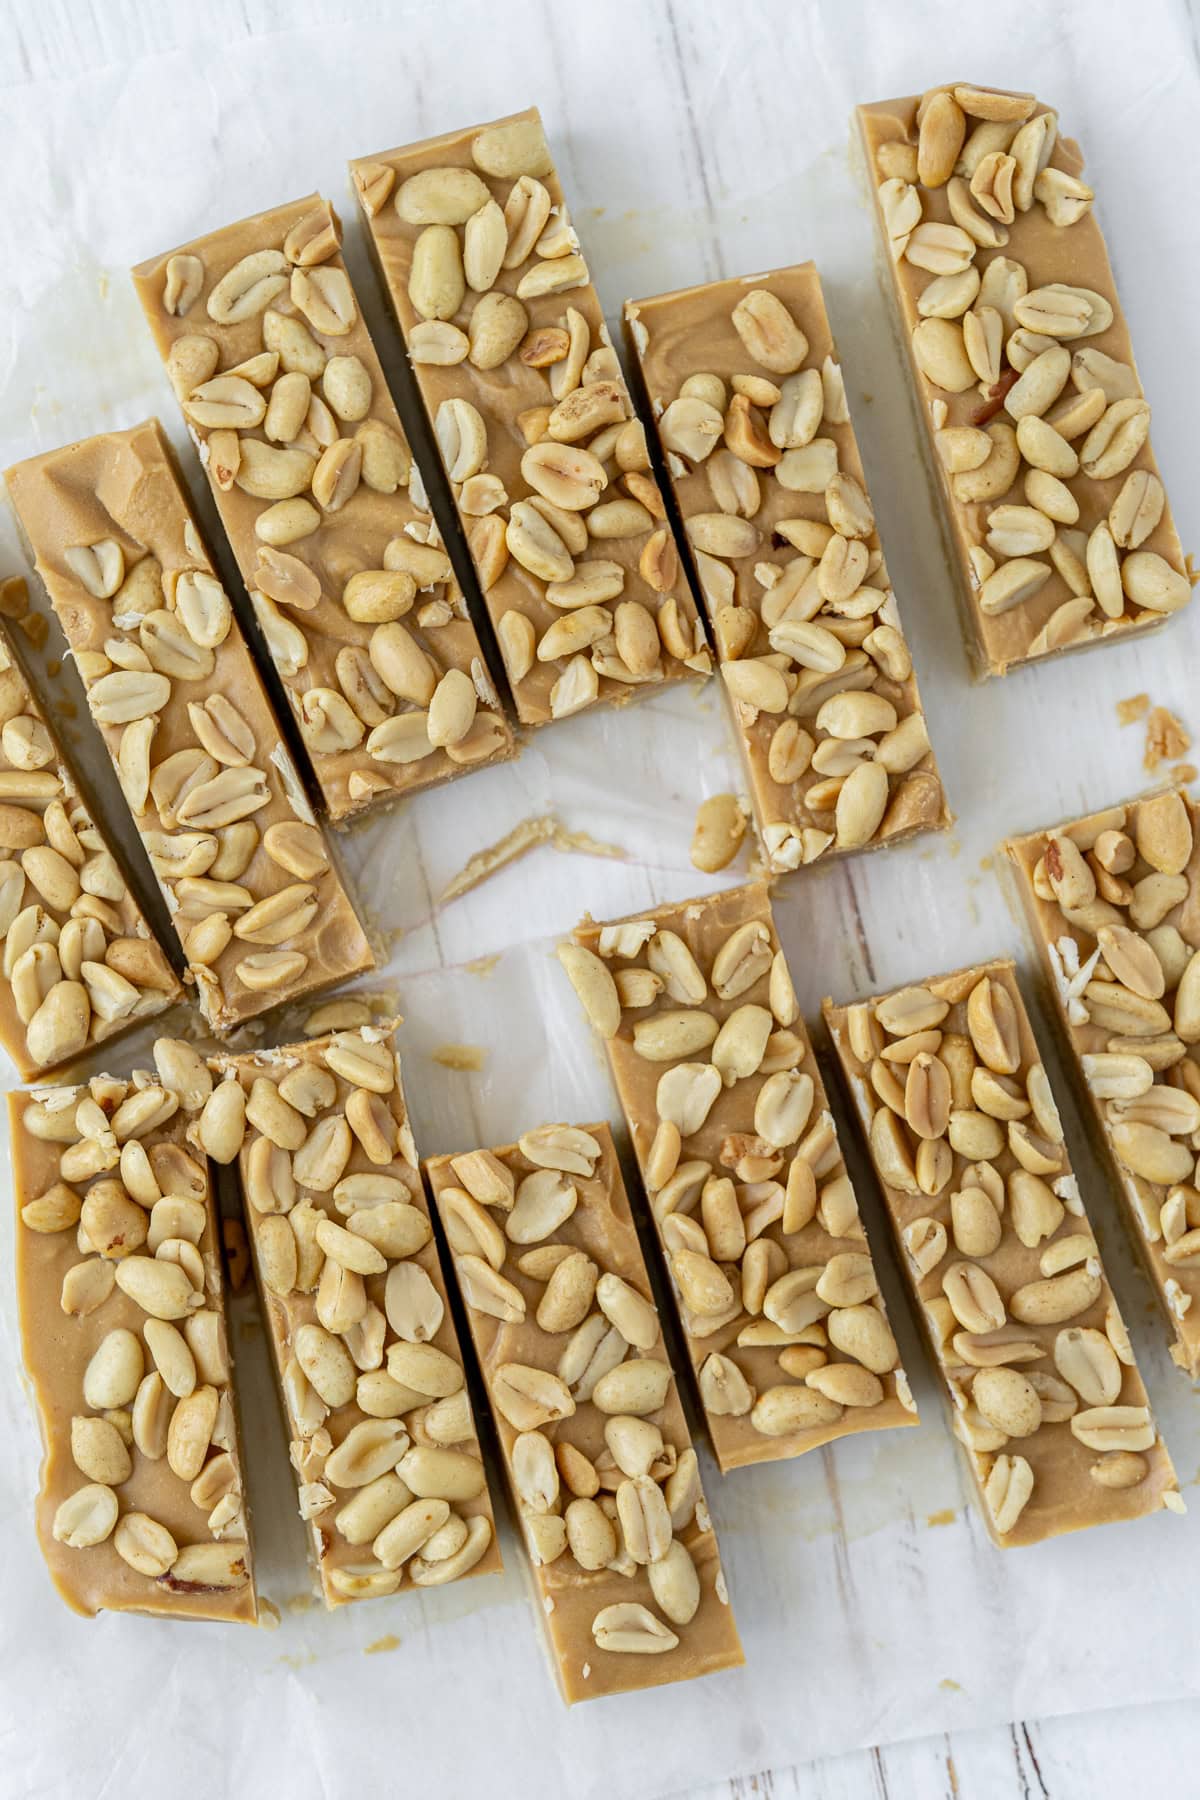
[[[1108,806],[1004,846],[1150,1282],[1200,1375],[1200,808]]]

